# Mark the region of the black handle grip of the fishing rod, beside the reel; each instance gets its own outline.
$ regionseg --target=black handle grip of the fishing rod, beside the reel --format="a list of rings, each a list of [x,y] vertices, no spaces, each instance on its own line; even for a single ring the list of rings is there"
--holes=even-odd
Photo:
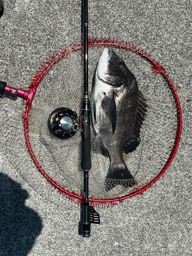
[[[90,117],[83,116],[83,132],[82,136],[82,158],[81,168],[83,170],[91,169],[91,133],[90,133]]]

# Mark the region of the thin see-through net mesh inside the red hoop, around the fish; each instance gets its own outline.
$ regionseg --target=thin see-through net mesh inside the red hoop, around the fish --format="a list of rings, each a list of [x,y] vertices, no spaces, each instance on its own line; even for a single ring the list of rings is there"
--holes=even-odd
[[[94,74],[103,49],[104,46],[89,48],[90,98]],[[123,153],[126,166],[137,182],[135,186],[142,187],[153,180],[167,162],[176,139],[178,110],[168,82],[161,74],[152,71],[150,62],[132,51],[121,48],[115,48],[114,51],[135,75],[139,90],[148,105],[147,116],[141,127],[139,146],[132,153]],[[81,133],[78,131],[69,139],[58,139],[49,131],[48,118],[52,111],[61,107],[75,111],[80,117],[82,95],[82,51],[71,51],[55,63],[39,83],[29,118],[29,139],[37,161],[52,180],[77,195],[83,193],[83,172],[80,166]],[[115,187],[115,181],[110,180],[109,186],[113,188],[106,190],[105,176],[110,160],[101,154],[92,123],[91,160],[90,198],[120,198],[134,190],[134,187],[127,187],[127,181],[123,180]]]

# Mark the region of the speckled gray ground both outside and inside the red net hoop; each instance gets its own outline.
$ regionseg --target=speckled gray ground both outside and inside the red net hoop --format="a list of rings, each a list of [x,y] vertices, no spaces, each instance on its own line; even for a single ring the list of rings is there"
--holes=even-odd
[[[28,90],[46,58],[60,48],[81,44],[81,10],[80,0],[4,0],[0,80]],[[80,131],[63,142],[52,136],[47,125],[50,113],[61,106],[81,113],[82,51],[71,52],[53,65],[39,83],[28,118],[29,140],[39,164],[72,196],[61,195],[34,164],[25,140],[22,99],[0,96],[0,255],[191,254],[190,16],[189,1],[89,0],[89,36],[119,37],[119,42],[131,42],[151,54],[173,82],[183,117],[180,145],[165,174],[143,195],[119,200],[117,205],[109,199],[124,197],[134,188],[119,184],[106,191],[110,161],[102,156],[91,127],[90,198],[105,201],[94,201],[100,224],[91,225],[89,239],[78,234],[81,207],[73,197],[83,193]],[[103,47],[89,48],[90,96]],[[142,186],[159,174],[170,155],[178,109],[166,79],[154,73],[146,59],[123,48],[114,51],[134,73],[148,105],[140,145],[132,153],[123,153]]]

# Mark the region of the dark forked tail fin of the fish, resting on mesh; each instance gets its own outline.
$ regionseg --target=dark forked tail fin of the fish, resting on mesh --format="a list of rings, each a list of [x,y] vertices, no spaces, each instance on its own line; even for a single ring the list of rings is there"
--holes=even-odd
[[[125,168],[123,169],[119,166],[114,167],[112,164],[110,165],[109,172],[105,177],[106,191],[117,185],[122,185],[124,188],[128,188],[137,184],[125,164],[123,167]]]

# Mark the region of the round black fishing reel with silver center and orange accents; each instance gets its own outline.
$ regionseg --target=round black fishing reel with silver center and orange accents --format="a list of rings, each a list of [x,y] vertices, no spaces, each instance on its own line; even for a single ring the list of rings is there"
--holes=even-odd
[[[79,118],[75,111],[59,108],[50,114],[48,126],[55,137],[67,139],[79,130]]]

